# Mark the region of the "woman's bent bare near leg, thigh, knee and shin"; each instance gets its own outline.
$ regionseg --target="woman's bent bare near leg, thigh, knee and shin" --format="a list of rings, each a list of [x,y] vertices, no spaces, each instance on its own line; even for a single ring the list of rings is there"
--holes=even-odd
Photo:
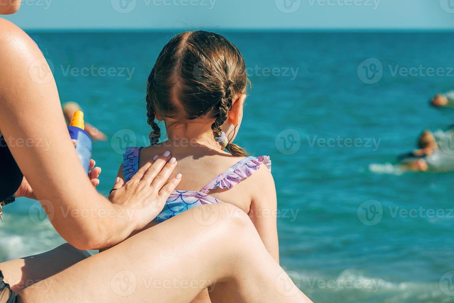
[[[247,215],[229,218],[238,213],[230,204],[188,210],[26,288],[18,302],[189,303],[213,284],[217,302],[311,302]]]

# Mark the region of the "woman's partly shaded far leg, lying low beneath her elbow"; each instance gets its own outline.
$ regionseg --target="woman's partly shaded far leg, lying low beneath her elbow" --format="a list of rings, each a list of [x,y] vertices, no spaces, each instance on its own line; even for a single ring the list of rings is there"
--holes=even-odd
[[[0,263],[0,270],[5,276],[5,283],[19,293],[89,256],[87,251],[64,243],[45,253]]]

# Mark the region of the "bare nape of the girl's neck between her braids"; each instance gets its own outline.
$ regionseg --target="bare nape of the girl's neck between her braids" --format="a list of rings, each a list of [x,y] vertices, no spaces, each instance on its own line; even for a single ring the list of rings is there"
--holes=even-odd
[[[166,126],[169,141],[188,140],[190,146],[202,145],[220,149],[214,140],[212,121],[188,121],[187,123],[172,123]]]

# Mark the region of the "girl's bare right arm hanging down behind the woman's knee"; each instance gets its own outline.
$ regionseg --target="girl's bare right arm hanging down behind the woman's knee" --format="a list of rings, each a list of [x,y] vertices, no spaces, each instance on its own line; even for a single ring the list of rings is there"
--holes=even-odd
[[[260,182],[254,186],[256,191],[251,199],[249,217],[257,228],[257,232],[262,238],[263,244],[271,256],[279,263],[279,241],[277,238],[277,199],[276,187],[270,171],[264,164],[254,173],[259,178],[254,178]]]

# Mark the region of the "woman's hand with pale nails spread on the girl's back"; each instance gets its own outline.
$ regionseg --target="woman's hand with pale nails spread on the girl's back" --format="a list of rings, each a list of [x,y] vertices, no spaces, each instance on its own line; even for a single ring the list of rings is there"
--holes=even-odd
[[[170,152],[153,159],[143,165],[126,184],[123,179],[117,178],[109,195],[114,205],[132,214],[135,230],[144,228],[156,218],[181,181],[181,174],[168,181],[177,165],[177,160],[170,158]]]

